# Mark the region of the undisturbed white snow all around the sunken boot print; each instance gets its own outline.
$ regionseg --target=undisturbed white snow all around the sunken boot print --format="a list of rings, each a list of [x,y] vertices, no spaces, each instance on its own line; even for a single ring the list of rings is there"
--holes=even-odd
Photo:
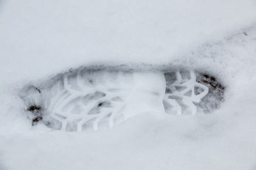
[[[92,64],[212,73],[225,103],[92,132],[32,127],[19,90]],[[1,170],[256,169],[256,1],[2,0],[0,66]]]

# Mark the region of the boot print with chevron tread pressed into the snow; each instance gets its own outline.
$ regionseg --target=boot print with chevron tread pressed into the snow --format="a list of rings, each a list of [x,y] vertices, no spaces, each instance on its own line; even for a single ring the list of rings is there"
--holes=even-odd
[[[205,111],[205,107],[216,105],[216,101],[207,103],[207,96],[215,97],[209,85],[218,83],[198,78],[202,75],[194,71],[76,69],[46,82],[40,92],[34,86],[26,87],[22,98],[27,106],[33,103],[42,107],[40,116],[45,124],[81,132],[113,127],[140,113],[194,115],[198,108]]]

